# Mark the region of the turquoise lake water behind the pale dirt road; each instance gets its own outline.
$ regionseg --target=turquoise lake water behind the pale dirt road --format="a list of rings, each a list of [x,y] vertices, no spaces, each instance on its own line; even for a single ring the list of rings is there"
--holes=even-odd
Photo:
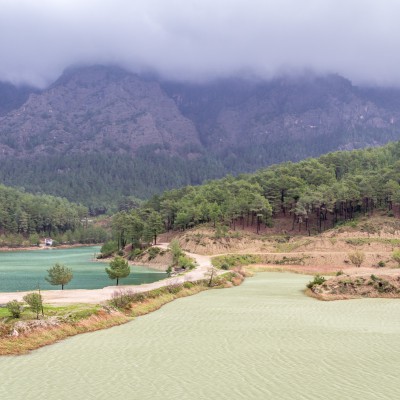
[[[45,249],[34,251],[0,252],[0,292],[57,289],[46,280],[47,270],[55,263],[72,269],[74,277],[65,289],[99,289],[115,285],[105,272],[107,263],[93,261],[99,246],[71,249]],[[120,279],[122,285],[140,285],[158,281],[165,273],[146,267],[131,267],[129,277]]]

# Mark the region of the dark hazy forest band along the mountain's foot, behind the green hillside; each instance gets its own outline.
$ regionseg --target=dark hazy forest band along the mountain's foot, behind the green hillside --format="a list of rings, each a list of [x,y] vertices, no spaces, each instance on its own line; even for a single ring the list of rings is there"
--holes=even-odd
[[[126,196],[148,199],[154,194],[186,185],[200,185],[205,180],[251,172],[283,160],[298,161],[340,146],[335,138],[309,143],[283,138],[273,146],[257,143],[226,148],[218,154],[212,150],[183,149],[182,154],[196,154],[185,159],[168,154],[159,146],[144,146],[132,156],[121,153],[112,142],[105,150],[115,153],[67,153],[35,158],[2,157],[0,182],[7,186],[65,197],[89,207],[92,215],[117,210]],[[290,143],[290,145],[288,145]]]

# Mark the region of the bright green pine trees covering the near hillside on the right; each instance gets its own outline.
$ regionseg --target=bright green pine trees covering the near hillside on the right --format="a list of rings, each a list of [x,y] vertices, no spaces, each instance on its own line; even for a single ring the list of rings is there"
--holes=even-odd
[[[116,214],[113,226],[120,246],[148,241],[143,233],[149,215],[165,230],[212,222],[259,232],[280,215],[293,220],[292,229],[320,232],[377,207],[393,212],[400,204],[399,183],[400,142],[396,142],[167,191],[137,210]]]

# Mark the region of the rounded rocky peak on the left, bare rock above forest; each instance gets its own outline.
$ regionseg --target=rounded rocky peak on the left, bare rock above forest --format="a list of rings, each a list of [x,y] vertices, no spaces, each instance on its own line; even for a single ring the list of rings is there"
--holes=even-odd
[[[4,155],[135,152],[144,145],[178,151],[199,144],[185,118],[155,81],[117,68],[67,71],[0,119]]]

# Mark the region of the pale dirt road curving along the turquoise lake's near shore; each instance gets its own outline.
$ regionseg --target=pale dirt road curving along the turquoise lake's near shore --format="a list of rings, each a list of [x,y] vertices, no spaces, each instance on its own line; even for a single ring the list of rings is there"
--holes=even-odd
[[[168,243],[158,245],[163,249],[168,248]],[[41,294],[45,303],[49,304],[74,304],[74,303],[89,303],[98,304],[109,300],[115,290],[130,289],[135,293],[147,292],[149,290],[158,289],[163,286],[179,284],[187,281],[197,281],[204,279],[211,267],[211,257],[198,254],[186,253],[194,258],[198,266],[185,275],[163,279],[161,281],[146,283],[139,286],[121,285],[107,286],[103,289],[72,289],[72,290],[42,290]],[[22,298],[30,292],[11,292],[0,293],[0,304],[6,304],[11,300],[22,301]]]

